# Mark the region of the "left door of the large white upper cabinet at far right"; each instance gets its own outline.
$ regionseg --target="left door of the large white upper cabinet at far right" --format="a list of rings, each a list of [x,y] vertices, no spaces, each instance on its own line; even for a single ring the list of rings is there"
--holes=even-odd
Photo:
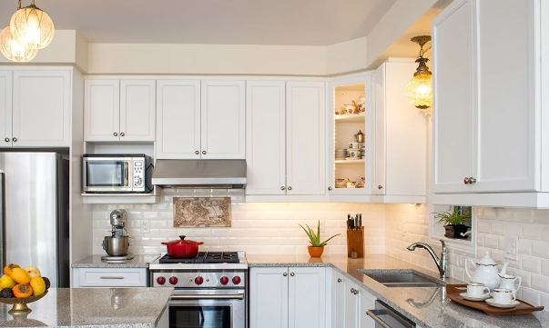
[[[471,191],[473,176],[472,1],[456,0],[432,21],[434,193]]]

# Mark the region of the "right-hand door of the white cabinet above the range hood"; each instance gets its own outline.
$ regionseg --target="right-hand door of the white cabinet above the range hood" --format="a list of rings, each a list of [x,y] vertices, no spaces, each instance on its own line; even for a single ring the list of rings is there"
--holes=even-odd
[[[244,81],[202,81],[202,158],[246,158]]]

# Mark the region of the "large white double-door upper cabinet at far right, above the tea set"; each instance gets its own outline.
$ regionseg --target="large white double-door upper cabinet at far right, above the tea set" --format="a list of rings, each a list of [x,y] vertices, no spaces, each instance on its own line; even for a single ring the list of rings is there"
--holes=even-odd
[[[434,204],[549,206],[542,15],[459,0],[432,21]]]

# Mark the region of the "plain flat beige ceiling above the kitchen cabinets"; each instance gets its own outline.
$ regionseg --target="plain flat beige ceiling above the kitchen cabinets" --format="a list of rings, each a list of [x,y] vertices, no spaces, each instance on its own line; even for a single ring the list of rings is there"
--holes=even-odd
[[[333,45],[369,34],[396,0],[36,0],[89,43]],[[30,0],[24,0],[28,5]],[[8,25],[17,0],[0,2]]]

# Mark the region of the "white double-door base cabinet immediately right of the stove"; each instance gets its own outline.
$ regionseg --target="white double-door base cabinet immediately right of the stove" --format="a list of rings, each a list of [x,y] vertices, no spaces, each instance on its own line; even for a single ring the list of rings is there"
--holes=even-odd
[[[326,270],[250,268],[249,328],[325,328]]]

